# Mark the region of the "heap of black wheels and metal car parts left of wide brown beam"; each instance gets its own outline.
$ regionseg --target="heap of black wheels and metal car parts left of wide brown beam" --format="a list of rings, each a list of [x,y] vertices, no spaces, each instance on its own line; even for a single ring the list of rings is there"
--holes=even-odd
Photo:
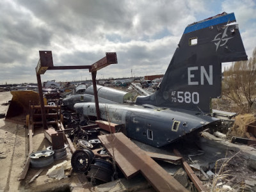
[[[116,173],[112,157],[97,138],[99,134],[99,127],[90,129],[90,125],[79,125],[67,133],[77,148],[71,158],[73,171],[86,175],[95,184],[113,180]]]

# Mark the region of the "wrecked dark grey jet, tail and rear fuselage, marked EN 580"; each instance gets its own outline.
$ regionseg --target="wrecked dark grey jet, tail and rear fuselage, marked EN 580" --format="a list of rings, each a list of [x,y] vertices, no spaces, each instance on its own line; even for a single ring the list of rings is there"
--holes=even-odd
[[[102,104],[100,117],[125,124],[127,136],[154,147],[213,124],[211,99],[221,96],[221,63],[247,60],[234,13],[221,13],[185,29],[159,88],[136,105]],[[96,116],[95,104],[74,108]]]

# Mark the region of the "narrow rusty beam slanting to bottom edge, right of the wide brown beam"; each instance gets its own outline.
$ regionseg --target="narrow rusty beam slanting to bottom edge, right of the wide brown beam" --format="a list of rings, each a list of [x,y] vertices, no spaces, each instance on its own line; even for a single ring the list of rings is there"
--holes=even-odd
[[[179,150],[173,149],[173,152],[174,152],[175,156],[182,157]],[[195,184],[196,189],[198,189],[198,191],[207,191],[207,189],[205,189],[202,181],[198,179],[195,172],[191,169],[191,167],[189,166],[189,164],[185,161],[185,159],[183,157],[182,157],[182,164],[183,164],[184,169],[185,169],[186,173],[188,174],[189,178],[192,180],[193,184]]]

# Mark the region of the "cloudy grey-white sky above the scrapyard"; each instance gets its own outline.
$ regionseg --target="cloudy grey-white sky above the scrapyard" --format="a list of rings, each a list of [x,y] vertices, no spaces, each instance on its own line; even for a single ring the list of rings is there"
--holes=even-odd
[[[222,12],[235,13],[252,56],[255,0],[1,0],[0,84],[36,83],[39,50],[52,51],[54,66],[91,65],[116,52],[118,64],[97,79],[131,77],[131,69],[132,76],[164,74],[186,26]],[[91,79],[88,70],[49,70],[41,77]]]

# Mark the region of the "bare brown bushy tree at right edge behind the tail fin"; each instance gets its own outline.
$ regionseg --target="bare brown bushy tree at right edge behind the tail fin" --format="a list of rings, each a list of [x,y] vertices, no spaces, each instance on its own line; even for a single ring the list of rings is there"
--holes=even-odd
[[[256,99],[256,48],[248,61],[237,61],[223,73],[222,93],[241,113],[250,113]]]

